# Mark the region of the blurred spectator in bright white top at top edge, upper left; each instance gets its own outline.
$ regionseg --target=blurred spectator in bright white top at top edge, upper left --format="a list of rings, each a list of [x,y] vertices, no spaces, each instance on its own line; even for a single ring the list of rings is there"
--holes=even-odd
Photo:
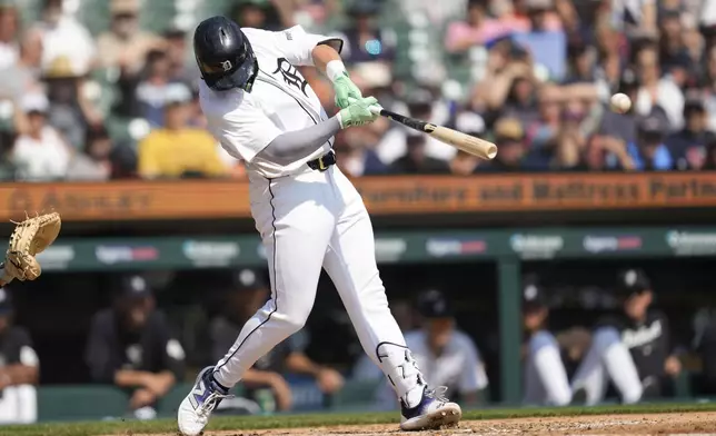
[[[63,0],[43,0],[41,21],[34,32],[42,38],[42,69],[60,57],[69,60],[72,73],[84,76],[96,57],[95,41],[89,31],[64,11]]]

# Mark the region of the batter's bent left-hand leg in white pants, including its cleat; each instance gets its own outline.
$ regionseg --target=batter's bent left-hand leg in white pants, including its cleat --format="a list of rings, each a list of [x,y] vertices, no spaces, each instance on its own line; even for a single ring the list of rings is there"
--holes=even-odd
[[[335,218],[316,185],[290,178],[266,185],[265,200],[252,192],[252,214],[269,266],[271,298],[251,317],[215,367],[205,368],[179,407],[179,429],[198,435],[210,413],[261,356],[298,331],[314,306]],[[213,397],[211,397],[213,395]]]

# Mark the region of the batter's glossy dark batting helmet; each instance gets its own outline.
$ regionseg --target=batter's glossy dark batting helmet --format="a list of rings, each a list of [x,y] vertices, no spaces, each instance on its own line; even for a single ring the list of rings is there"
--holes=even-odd
[[[208,18],[193,32],[193,53],[207,86],[217,91],[251,90],[259,71],[249,40],[236,22]]]

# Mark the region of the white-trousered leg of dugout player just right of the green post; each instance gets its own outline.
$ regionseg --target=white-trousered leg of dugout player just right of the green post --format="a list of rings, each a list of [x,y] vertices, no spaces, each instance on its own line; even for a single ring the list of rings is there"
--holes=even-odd
[[[568,405],[571,402],[571,389],[555,337],[549,331],[538,331],[529,339],[528,347],[525,402]]]

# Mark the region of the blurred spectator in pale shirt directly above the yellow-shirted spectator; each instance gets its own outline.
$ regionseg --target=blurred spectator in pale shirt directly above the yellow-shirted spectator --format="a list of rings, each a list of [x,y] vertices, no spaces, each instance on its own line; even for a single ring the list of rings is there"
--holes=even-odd
[[[152,127],[163,126],[163,108],[167,105],[169,93],[176,88],[170,73],[171,65],[167,52],[150,50],[147,53],[143,78],[139,81],[135,91],[137,106],[132,110],[132,115],[147,119]],[[131,79],[129,79],[127,86],[131,89],[133,86]]]

